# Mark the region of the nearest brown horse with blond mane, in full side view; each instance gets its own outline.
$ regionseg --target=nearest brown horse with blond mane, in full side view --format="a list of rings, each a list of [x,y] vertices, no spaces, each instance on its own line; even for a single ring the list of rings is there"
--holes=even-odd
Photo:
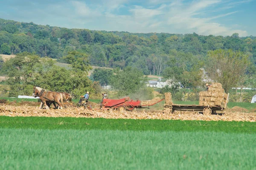
[[[56,102],[60,109],[62,109],[64,107],[63,95],[59,94],[58,92],[46,91],[43,88],[34,87],[33,88],[33,96],[34,97],[39,96],[39,98],[41,99],[41,105],[39,108],[41,108],[43,105],[45,105],[45,107],[47,109],[49,109],[46,102]]]

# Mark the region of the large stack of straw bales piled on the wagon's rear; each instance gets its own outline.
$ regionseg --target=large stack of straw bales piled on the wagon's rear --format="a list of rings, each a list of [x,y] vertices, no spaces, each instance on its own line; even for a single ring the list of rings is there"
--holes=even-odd
[[[199,93],[199,105],[224,107],[226,100],[227,94],[224,93],[221,83],[214,82],[209,86],[208,91]]]

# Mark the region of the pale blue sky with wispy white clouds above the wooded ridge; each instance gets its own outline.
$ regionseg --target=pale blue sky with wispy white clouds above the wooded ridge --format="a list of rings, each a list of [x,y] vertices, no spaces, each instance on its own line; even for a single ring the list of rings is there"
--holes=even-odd
[[[256,36],[256,0],[0,0],[0,18],[90,30]]]

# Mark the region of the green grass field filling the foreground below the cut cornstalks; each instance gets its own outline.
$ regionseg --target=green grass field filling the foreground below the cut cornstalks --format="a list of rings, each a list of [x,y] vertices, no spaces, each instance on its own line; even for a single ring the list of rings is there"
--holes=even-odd
[[[256,124],[0,116],[0,169],[255,169]]]

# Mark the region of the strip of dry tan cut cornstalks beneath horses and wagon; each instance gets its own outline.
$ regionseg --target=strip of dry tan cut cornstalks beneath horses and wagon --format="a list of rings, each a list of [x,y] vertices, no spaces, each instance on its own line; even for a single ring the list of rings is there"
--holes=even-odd
[[[175,112],[164,114],[162,111],[100,111],[67,107],[62,110],[38,109],[34,106],[1,105],[0,116],[44,116],[44,117],[87,117],[105,119],[179,119],[206,121],[247,121],[256,122],[256,113],[225,112],[224,115],[203,115],[198,112]]]

